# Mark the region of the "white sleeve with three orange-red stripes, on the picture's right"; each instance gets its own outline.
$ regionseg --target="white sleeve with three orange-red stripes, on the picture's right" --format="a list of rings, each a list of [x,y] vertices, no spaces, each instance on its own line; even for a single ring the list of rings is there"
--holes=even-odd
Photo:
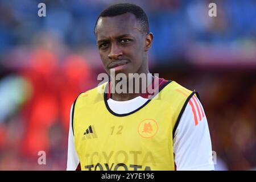
[[[199,99],[191,97],[174,134],[176,169],[214,170],[207,117]]]

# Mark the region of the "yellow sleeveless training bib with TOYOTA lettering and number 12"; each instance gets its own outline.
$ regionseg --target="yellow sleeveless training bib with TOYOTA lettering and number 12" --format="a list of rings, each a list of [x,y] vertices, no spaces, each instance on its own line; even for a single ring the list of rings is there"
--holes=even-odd
[[[173,133],[194,94],[167,82],[156,100],[128,114],[107,104],[107,82],[81,93],[73,107],[73,134],[82,170],[174,170]]]

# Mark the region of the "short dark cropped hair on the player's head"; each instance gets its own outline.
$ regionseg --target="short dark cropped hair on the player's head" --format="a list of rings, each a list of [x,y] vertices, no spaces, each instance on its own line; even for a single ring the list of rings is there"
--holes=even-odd
[[[116,5],[109,6],[101,12],[101,14],[98,16],[96,20],[96,24],[94,26],[94,33],[98,19],[100,19],[101,17],[112,17],[122,15],[125,13],[134,14],[138,22],[141,24],[142,31],[146,33],[150,32],[147,15],[141,7],[131,3],[119,3]]]

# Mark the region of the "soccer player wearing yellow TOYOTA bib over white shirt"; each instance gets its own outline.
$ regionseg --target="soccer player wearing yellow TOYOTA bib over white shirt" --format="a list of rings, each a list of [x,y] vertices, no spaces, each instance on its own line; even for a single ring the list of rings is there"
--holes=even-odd
[[[140,82],[139,93],[112,92],[119,81],[111,80],[76,98],[67,170],[213,170],[207,117],[197,92],[148,71],[153,34],[141,7],[108,7],[98,16],[94,33],[109,75],[150,77],[144,81],[146,90]]]

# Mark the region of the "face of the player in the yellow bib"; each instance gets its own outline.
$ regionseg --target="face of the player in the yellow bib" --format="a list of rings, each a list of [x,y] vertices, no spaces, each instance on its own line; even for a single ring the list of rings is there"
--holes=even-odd
[[[101,60],[109,75],[110,69],[126,76],[147,71],[144,70],[147,69],[147,36],[133,14],[101,17],[95,32]]]

